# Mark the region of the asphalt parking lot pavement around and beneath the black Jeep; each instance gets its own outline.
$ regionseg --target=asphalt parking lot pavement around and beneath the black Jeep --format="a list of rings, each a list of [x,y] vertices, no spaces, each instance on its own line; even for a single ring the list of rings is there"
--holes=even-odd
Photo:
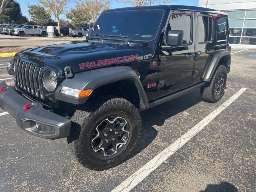
[[[10,60],[0,58],[0,81],[13,85],[5,69]],[[219,102],[202,102],[198,89],[141,112],[136,151],[101,172],[76,162],[66,139],[32,136],[0,110],[0,191],[255,192],[255,71],[256,50],[232,50]],[[195,129],[197,134],[186,137]],[[177,141],[186,143],[175,148]]]

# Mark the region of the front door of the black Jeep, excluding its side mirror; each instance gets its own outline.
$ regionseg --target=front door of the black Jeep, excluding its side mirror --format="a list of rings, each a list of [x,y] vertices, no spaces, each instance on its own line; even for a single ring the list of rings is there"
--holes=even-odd
[[[195,58],[194,12],[173,10],[162,45],[166,45],[166,33],[169,30],[184,32],[183,44],[174,46],[171,51],[159,54],[158,94],[170,94],[193,84],[192,72]]]

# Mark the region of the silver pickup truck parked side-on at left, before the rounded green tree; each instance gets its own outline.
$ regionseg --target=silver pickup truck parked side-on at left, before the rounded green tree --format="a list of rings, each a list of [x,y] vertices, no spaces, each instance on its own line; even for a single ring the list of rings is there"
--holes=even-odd
[[[25,35],[38,35],[45,37],[47,33],[47,29],[39,28],[37,25],[24,25],[20,28],[14,28],[13,35],[23,37]]]

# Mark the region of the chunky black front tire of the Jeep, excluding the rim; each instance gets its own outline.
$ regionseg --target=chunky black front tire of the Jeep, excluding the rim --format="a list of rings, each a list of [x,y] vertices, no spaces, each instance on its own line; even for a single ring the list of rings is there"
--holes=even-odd
[[[111,156],[100,156],[92,149],[92,134],[102,120],[109,116],[120,116],[129,123],[130,135],[124,147]],[[86,105],[76,109],[71,118],[68,145],[74,157],[91,170],[106,170],[122,163],[134,150],[141,135],[142,121],[137,108],[124,98],[104,95],[90,99]]]

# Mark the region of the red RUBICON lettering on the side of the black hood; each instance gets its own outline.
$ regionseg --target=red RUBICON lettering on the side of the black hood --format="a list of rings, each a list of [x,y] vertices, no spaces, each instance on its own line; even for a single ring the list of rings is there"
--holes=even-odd
[[[102,65],[118,64],[118,63],[130,62],[130,61],[135,61],[135,60],[139,60],[138,54],[80,63],[79,68],[80,68],[80,70],[83,70],[85,68],[94,68],[94,67],[99,67]]]

